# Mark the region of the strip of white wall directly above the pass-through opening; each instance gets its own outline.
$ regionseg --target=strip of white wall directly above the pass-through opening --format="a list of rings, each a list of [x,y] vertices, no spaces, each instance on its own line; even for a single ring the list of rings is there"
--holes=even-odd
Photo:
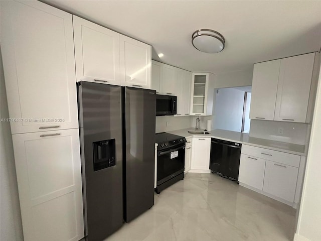
[[[253,67],[250,69],[215,75],[214,88],[252,85]]]

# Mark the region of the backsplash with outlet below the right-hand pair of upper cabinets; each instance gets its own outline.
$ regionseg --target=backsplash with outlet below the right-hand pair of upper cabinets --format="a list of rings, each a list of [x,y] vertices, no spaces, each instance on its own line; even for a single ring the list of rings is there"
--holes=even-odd
[[[283,129],[283,134],[278,133],[279,128]],[[306,145],[307,128],[308,124],[306,123],[289,123],[252,119],[249,136],[278,142]]]

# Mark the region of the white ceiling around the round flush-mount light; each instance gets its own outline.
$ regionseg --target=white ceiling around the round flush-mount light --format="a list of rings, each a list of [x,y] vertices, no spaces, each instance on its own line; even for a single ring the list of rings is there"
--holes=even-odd
[[[152,59],[194,72],[248,69],[321,46],[321,1],[43,2],[150,44]],[[201,28],[223,34],[221,53],[202,53],[192,46],[191,35]]]

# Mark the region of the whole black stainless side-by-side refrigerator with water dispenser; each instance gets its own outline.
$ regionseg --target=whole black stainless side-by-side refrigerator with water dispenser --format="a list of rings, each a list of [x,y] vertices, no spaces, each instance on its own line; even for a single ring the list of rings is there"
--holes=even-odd
[[[81,81],[85,236],[101,241],[153,205],[155,91]]]

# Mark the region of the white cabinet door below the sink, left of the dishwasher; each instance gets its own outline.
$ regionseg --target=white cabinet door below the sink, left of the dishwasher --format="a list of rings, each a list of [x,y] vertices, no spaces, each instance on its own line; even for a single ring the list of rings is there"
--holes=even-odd
[[[210,173],[211,138],[193,138],[191,172]]]

